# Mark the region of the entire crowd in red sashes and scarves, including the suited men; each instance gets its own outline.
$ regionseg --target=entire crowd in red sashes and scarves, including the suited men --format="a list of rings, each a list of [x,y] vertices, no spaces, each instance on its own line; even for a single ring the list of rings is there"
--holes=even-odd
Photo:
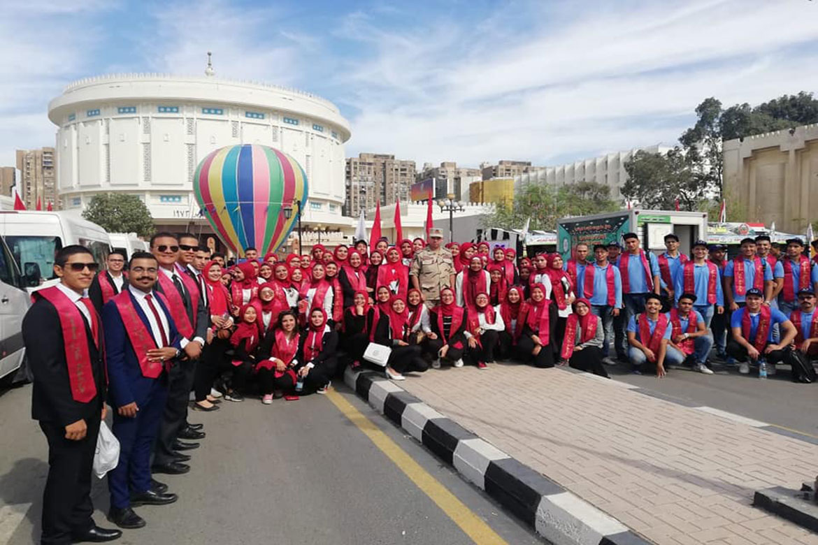
[[[518,258],[487,242],[443,246],[433,228],[428,239],[375,248],[317,244],[263,257],[245,248],[236,262],[195,235],[161,232],[151,252],[127,262],[111,252],[97,275],[88,249],[62,248],[60,284],[34,294],[23,324],[33,416],[50,448],[42,543],[121,534],[91,518],[106,404],[120,444],[108,519],[133,529],[146,524],[133,507],[177,500],[154,476],[189,471],[185,451],[205,431],[188,409],[324,394],[347,367],[402,381],[497,360],[607,377],[621,362],[663,377],[671,364],[712,373],[715,346],[739,373],[753,365],[773,374],[784,363],[803,382],[814,377],[818,264],[802,240],[774,257],[769,239],[744,239],[730,260],[703,241],[685,256],[672,234],[659,256],[636,234],[623,242],[579,243],[567,261]],[[389,349],[380,360],[371,355],[378,346]]]

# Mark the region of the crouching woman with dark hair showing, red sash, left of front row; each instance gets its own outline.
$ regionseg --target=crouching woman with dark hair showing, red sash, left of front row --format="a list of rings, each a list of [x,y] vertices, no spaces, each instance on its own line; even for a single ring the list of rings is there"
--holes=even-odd
[[[271,404],[276,392],[298,399],[292,394],[298,382],[295,368],[299,364],[299,324],[292,310],[278,315],[278,327],[267,333],[258,352],[256,373],[261,402]]]

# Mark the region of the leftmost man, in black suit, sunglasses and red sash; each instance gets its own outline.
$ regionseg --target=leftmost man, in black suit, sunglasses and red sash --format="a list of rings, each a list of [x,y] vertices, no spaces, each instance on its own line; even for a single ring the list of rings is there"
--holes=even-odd
[[[34,388],[31,413],[48,440],[41,543],[104,542],[117,529],[93,519],[91,472],[105,418],[106,373],[101,320],[84,294],[98,264],[88,248],[57,252],[60,284],[34,293],[23,319],[23,340]]]

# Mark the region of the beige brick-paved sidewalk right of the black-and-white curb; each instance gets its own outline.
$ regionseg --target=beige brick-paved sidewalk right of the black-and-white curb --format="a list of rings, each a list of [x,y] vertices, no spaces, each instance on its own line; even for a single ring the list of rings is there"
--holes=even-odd
[[[816,444],[564,369],[444,368],[400,386],[659,545],[818,544],[751,506],[756,489],[814,478]]]

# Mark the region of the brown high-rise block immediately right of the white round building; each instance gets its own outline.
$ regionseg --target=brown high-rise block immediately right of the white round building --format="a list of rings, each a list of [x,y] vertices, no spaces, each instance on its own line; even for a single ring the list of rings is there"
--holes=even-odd
[[[375,203],[409,200],[409,188],[415,182],[415,162],[395,159],[388,154],[358,154],[347,159],[344,216],[356,217]]]

